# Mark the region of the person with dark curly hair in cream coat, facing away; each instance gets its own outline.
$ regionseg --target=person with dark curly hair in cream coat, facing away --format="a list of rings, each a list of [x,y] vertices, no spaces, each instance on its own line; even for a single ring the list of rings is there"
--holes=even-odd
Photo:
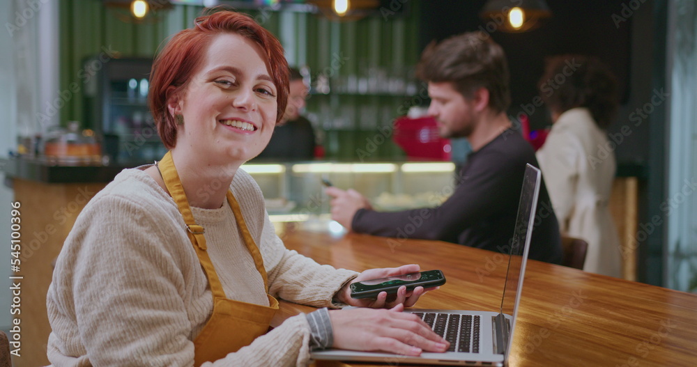
[[[557,75],[565,82],[552,89],[546,81]],[[583,270],[619,277],[620,240],[608,208],[616,163],[605,148],[617,81],[595,57],[564,55],[548,62],[538,87],[553,125],[537,161],[561,232],[588,242]]]

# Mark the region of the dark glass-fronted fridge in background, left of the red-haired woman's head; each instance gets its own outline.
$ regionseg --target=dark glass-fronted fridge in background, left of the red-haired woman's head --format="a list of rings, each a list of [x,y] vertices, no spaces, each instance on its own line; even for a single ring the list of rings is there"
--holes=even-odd
[[[95,59],[85,61],[86,70]],[[84,116],[103,139],[113,162],[148,162],[167,150],[148,109],[151,58],[112,58],[100,65],[85,89]]]

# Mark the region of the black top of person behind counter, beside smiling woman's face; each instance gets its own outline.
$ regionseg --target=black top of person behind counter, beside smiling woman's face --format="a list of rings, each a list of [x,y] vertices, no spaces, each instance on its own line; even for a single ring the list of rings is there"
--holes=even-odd
[[[311,160],[314,158],[312,123],[302,116],[274,128],[260,159]]]

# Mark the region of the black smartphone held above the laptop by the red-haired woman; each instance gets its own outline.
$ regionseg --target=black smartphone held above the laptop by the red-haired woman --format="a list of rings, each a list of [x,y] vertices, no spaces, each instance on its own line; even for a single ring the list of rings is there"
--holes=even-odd
[[[388,276],[386,278],[351,283],[351,298],[377,298],[380,292],[388,292],[388,295],[392,295],[397,293],[401,286],[406,286],[406,290],[413,290],[419,286],[431,288],[443,286],[443,284],[445,284],[445,276],[443,276],[441,270]]]

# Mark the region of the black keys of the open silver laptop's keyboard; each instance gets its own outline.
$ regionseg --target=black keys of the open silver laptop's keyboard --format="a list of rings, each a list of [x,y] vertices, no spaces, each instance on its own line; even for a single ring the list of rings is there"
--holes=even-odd
[[[448,352],[479,353],[480,316],[431,312],[413,314],[450,342]]]

